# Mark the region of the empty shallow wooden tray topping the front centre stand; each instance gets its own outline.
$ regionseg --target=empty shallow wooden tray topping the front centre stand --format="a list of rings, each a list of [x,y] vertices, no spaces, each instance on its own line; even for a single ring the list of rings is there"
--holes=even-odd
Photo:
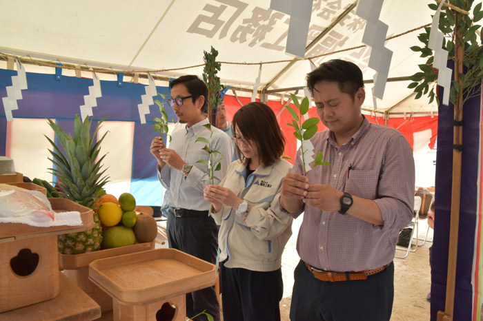
[[[121,302],[146,304],[215,285],[215,265],[177,249],[95,260],[89,280]]]

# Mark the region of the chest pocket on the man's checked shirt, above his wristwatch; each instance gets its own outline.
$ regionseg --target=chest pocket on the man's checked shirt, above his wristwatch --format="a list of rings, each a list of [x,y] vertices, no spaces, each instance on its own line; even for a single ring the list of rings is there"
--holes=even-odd
[[[353,196],[374,200],[377,198],[377,183],[379,172],[377,170],[352,169],[346,179],[344,191]]]

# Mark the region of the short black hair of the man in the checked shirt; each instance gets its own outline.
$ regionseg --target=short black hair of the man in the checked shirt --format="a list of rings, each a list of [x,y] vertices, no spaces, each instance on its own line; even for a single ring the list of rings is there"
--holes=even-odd
[[[339,83],[341,92],[355,96],[360,87],[364,87],[362,71],[355,63],[341,59],[333,59],[319,65],[307,74],[307,87],[312,96],[315,84],[319,81],[335,81]]]

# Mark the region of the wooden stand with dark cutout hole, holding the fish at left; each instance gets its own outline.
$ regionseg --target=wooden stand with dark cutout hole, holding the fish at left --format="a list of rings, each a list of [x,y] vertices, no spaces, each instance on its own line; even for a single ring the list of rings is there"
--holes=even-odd
[[[59,294],[57,234],[93,226],[91,209],[67,199],[49,200],[57,214],[79,211],[83,224],[33,227],[0,223],[0,313],[55,298]]]

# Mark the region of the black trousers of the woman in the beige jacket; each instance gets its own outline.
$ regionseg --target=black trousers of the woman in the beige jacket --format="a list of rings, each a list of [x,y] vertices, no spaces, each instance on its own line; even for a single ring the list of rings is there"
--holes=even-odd
[[[224,321],[280,321],[282,269],[270,272],[224,267],[220,284]]]

